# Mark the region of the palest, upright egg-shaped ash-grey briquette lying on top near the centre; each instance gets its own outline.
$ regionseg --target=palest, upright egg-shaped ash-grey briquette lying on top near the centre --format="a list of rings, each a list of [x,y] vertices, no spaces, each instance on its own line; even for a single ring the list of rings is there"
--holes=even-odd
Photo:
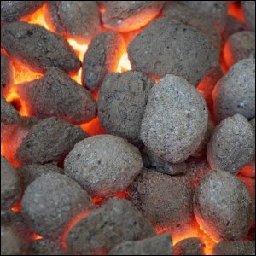
[[[140,137],[157,156],[180,163],[199,147],[207,121],[206,102],[195,87],[166,75],[149,91]]]

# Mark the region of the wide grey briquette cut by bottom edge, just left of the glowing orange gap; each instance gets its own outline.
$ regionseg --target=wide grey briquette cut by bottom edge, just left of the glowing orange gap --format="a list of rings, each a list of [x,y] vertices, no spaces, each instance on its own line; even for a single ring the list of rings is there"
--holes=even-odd
[[[169,233],[141,241],[125,241],[108,255],[172,255],[172,237]]]

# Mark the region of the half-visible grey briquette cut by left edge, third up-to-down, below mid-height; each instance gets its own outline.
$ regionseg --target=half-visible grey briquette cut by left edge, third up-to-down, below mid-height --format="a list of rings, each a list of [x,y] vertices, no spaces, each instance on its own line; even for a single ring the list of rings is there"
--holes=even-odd
[[[1,210],[9,210],[21,195],[20,177],[9,161],[1,156]]]

